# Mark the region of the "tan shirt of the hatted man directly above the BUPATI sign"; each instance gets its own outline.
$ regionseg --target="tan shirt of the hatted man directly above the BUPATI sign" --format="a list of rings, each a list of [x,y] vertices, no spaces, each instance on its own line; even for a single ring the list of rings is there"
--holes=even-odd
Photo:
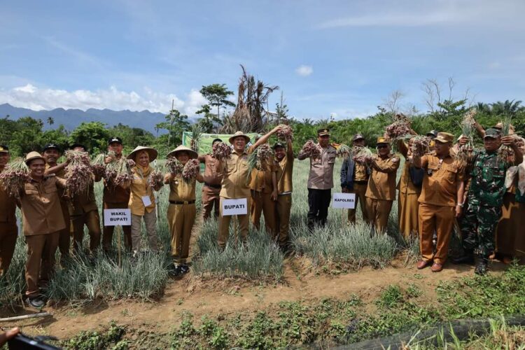
[[[223,182],[221,183],[221,193],[224,198],[249,198],[250,186],[248,178],[248,152],[244,151],[241,155],[233,151],[230,158],[221,162],[223,169]]]

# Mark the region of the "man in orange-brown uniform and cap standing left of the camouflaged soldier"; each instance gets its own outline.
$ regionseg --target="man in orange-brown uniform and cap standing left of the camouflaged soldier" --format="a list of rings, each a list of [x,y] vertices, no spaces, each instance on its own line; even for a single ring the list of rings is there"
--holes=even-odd
[[[434,139],[435,154],[414,155],[414,166],[425,169],[423,187],[419,195],[419,247],[421,260],[418,269],[430,265],[432,272],[440,272],[447,260],[454,218],[461,216],[463,208],[464,169],[450,155],[454,135],[440,132]],[[432,237],[437,243],[433,251]]]

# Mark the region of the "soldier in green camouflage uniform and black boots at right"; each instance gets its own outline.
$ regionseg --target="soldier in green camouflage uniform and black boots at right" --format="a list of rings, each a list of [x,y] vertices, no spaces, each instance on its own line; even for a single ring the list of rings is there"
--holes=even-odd
[[[465,257],[461,262],[473,262],[477,256],[476,274],[486,274],[489,255],[494,251],[494,234],[501,216],[501,205],[505,194],[505,172],[508,167],[523,160],[514,137],[501,137],[496,129],[486,130],[484,151],[475,152],[470,160],[470,188],[468,209],[461,221]],[[514,151],[514,161],[498,158],[501,144]]]

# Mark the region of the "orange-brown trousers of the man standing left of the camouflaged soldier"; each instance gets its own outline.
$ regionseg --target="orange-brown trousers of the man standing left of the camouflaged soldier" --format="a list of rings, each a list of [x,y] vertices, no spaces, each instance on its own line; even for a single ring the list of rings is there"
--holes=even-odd
[[[434,260],[437,264],[447,261],[455,214],[454,207],[419,204],[419,248],[423,260]],[[434,231],[437,235],[435,254],[432,244]]]

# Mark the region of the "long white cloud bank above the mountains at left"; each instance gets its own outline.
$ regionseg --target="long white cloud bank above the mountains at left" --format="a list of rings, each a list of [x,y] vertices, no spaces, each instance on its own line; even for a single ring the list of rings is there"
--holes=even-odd
[[[41,111],[43,109],[81,109],[83,111],[93,109],[113,109],[120,111],[144,111],[167,113],[172,109],[172,101],[175,109],[190,116],[206,99],[198,90],[191,90],[186,99],[180,99],[175,94],[155,92],[144,87],[142,92],[125,92],[111,86],[109,89],[91,90],[55,90],[36,87],[27,84],[13,87],[10,90],[0,90],[0,104],[8,103],[13,106]]]

